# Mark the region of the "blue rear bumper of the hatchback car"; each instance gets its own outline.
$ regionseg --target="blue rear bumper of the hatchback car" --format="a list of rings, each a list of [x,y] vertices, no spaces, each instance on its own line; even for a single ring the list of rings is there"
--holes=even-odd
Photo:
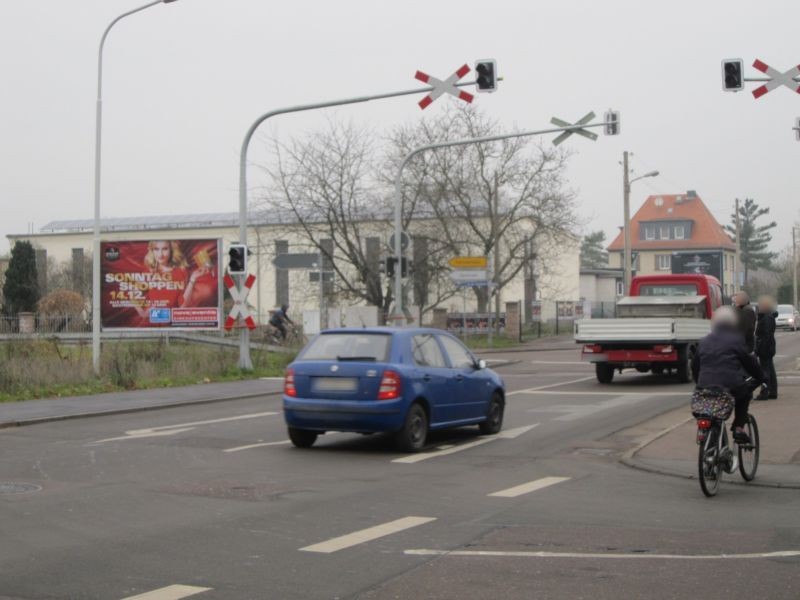
[[[315,431],[397,431],[403,425],[405,402],[398,400],[319,400],[283,397],[289,427]]]

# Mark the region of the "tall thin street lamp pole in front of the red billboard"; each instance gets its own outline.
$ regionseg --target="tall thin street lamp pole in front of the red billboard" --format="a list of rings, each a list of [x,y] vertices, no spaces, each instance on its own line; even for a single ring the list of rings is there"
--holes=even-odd
[[[125,17],[155,6],[170,4],[176,0],[153,0],[138,8],[129,10],[111,21],[100,38],[97,51],[97,103],[95,111],[94,139],[94,228],[92,236],[92,367],[95,375],[100,375],[100,147],[103,126],[103,47],[111,28]]]

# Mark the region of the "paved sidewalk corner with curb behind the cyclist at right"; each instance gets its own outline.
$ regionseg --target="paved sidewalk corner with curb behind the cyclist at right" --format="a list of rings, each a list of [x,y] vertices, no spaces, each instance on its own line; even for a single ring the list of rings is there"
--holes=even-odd
[[[779,400],[753,402],[750,411],[758,420],[761,456],[756,479],[747,485],[800,489],[800,381],[783,379]],[[656,473],[696,478],[695,420],[688,406],[670,416],[671,428],[629,453],[623,462]],[[743,483],[738,473],[724,481]]]

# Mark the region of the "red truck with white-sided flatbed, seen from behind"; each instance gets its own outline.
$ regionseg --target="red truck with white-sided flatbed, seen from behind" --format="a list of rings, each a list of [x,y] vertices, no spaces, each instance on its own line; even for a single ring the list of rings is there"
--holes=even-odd
[[[617,303],[614,319],[575,322],[581,359],[595,364],[597,380],[611,383],[616,372],[674,373],[691,380],[697,342],[711,329],[722,305],[722,286],[710,275],[641,275],[630,296]]]

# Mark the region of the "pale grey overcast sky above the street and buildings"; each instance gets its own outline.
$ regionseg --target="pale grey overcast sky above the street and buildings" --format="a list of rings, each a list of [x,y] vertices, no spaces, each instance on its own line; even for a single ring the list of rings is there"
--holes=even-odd
[[[143,0],[0,2],[0,253],[5,235],[93,214],[97,45]],[[179,0],[120,22],[105,51],[103,216],[237,210],[238,154],[250,123],[273,108],[413,88],[495,58],[505,78],[476,102],[508,125],[546,126],[613,107],[622,135],[573,136],[569,166],[588,229],[622,220],[623,150],[651,193],[697,190],[720,221],[755,198],[779,223],[798,217],[800,95],[755,100],[721,91],[720,61],[800,61],[800,2],[472,0]],[[793,49],[794,46],[794,49]],[[749,84],[753,89],[753,84]],[[338,109],[392,125],[429,118],[417,97]],[[330,112],[329,112],[330,114]],[[322,115],[279,117],[281,139]],[[252,159],[266,153],[255,146]],[[252,170],[251,170],[252,171]],[[251,183],[257,184],[257,173]]]

